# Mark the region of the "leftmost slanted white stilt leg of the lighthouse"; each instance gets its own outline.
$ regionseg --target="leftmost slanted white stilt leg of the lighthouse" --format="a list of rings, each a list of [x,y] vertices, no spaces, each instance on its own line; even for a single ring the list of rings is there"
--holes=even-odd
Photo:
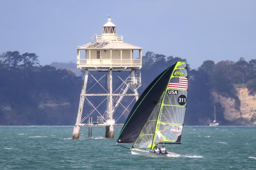
[[[79,133],[80,133],[80,126],[79,126],[79,124],[81,123],[81,118],[82,118],[82,113],[83,113],[84,94],[85,94],[85,91],[86,91],[88,74],[89,74],[89,70],[86,69],[85,72],[84,72],[84,85],[82,87],[82,92],[81,92],[80,102],[79,102],[79,108],[78,108],[77,118],[76,118],[76,125],[74,127],[72,139],[78,139],[79,138]]]

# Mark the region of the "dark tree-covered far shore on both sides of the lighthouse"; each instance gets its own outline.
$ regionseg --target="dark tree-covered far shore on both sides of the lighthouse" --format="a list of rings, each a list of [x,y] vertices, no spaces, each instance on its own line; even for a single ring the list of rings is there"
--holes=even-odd
[[[147,52],[143,56],[139,93],[176,61],[186,60]],[[74,63],[53,64],[58,68],[67,68]],[[232,124],[223,118],[224,108],[221,104],[213,102],[212,91],[235,99],[238,110],[240,101],[235,87],[247,87],[250,94],[256,92],[255,59],[246,62],[240,58],[237,62],[221,61],[216,64],[207,60],[197,70],[189,69],[188,74],[188,109],[185,117],[188,125],[203,125],[213,119],[214,104],[218,121]],[[0,55],[0,82],[0,125],[74,125],[83,78],[77,77],[72,71],[42,66],[34,53],[8,51]]]

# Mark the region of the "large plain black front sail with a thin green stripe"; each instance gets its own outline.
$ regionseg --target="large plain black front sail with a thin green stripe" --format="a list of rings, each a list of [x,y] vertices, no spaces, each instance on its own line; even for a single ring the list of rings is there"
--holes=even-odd
[[[124,123],[116,141],[117,144],[133,144],[135,142],[157,101],[165,91],[175,65],[176,63],[164,70],[140,95]]]

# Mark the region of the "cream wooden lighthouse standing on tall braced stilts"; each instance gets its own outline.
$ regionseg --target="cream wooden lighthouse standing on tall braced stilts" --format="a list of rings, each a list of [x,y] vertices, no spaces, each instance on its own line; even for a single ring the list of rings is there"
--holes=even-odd
[[[97,113],[98,119],[101,120],[98,123],[106,126],[106,137],[113,138],[116,122],[113,116],[123,115],[125,111],[127,112],[127,108],[131,105],[132,101],[138,100],[139,96],[138,88],[141,85],[142,48],[124,43],[123,36],[117,35],[116,26],[111,22],[110,18],[108,18],[108,22],[103,26],[103,33],[101,35],[94,34],[91,40],[92,42],[77,48],[77,68],[84,69],[85,72],[73,139],[79,138],[80,126],[84,125],[84,120],[92,113]],[[106,76],[106,85],[100,84],[103,77],[97,79],[93,76],[96,71],[105,72],[103,77]],[[120,71],[129,71],[129,76],[121,78],[118,75]],[[115,91],[112,88],[112,74],[115,74],[122,80],[121,85]],[[90,84],[88,77],[90,76],[95,80],[95,84],[100,85],[105,90],[105,93],[89,92],[95,85],[91,83],[94,85],[88,88]],[[105,97],[104,100],[106,100],[107,106],[102,104],[103,101],[100,105],[94,106],[89,99],[92,96]],[[133,100],[124,106],[121,101],[127,96],[132,97]],[[85,116],[82,119],[85,100],[91,104],[93,111],[91,112],[91,110],[89,111],[89,109],[84,108],[84,112],[86,113],[84,113]],[[124,107],[123,113],[116,113],[118,106]],[[106,107],[104,113],[99,111],[99,108],[102,107]]]

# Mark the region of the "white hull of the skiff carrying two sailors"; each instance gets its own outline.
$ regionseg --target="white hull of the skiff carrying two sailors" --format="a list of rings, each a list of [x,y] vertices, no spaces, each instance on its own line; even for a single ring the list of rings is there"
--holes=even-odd
[[[168,152],[168,154],[156,154],[154,151],[151,150],[140,150],[140,149],[130,149],[132,155],[140,155],[140,156],[149,156],[149,157],[179,157],[179,156],[186,156],[180,155],[178,153]]]

